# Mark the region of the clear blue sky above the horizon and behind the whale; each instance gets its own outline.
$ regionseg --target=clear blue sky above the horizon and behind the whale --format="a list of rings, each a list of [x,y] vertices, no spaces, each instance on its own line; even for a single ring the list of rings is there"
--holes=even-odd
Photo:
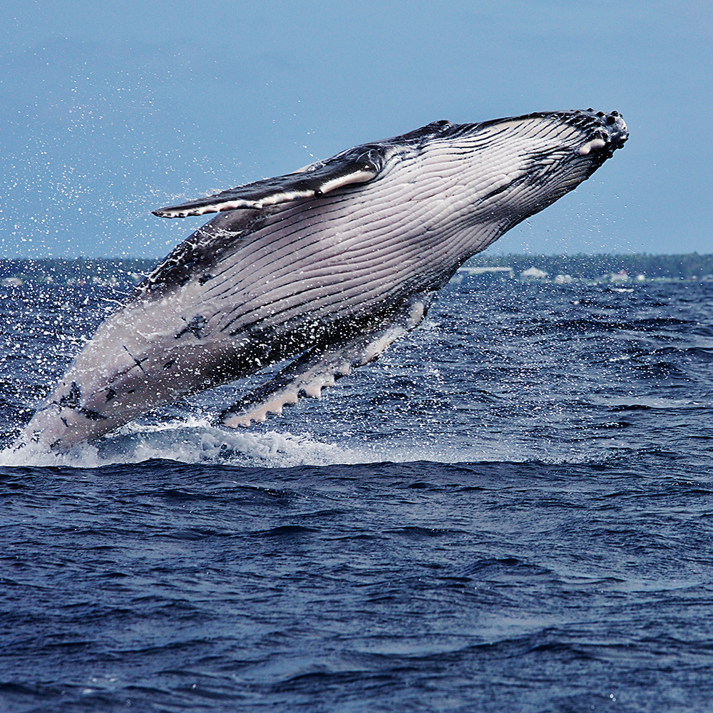
[[[588,108],[630,139],[490,252],[713,252],[709,0],[0,6],[0,259],[167,254],[150,211],[437,119]]]

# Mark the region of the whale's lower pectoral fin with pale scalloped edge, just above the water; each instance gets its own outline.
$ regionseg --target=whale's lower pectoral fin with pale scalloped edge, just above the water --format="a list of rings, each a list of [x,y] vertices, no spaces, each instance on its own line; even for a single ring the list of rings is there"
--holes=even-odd
[[[414,295],[374,329],[327,346],[312,347],[273,379],[223,411],[220,422],[232,429],[250,426],[251,421],[265,421],[267,414],[281,415],[284,406],[297,404],[303,396],[319,399],[325,386],[334,386],[352,369],[378,359],[386,347],[421,324],[433,297],[433,292]]]

